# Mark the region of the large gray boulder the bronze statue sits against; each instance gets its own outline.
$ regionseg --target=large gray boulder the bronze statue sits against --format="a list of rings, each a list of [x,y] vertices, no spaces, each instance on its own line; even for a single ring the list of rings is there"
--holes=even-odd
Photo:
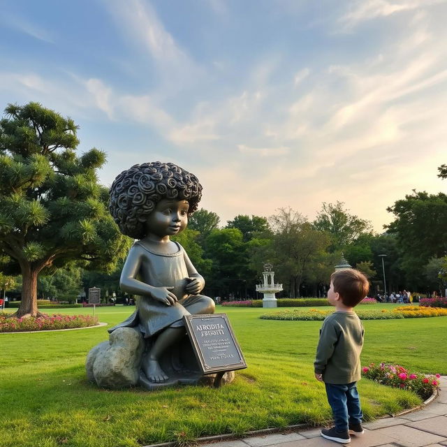
[[[123,388],[138,383],[145,342],[140,331],[117,328],[88,353],[87,379],[105,388]]]

